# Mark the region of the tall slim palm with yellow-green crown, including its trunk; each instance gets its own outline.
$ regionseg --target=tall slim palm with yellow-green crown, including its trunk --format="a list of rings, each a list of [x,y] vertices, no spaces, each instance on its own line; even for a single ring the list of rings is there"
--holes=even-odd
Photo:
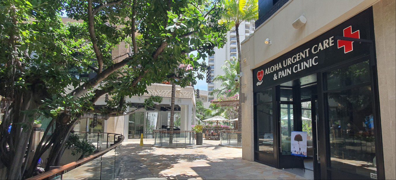
[[[226,0],[226,12],[223,15],[225,19],[230,21],[236,31],[236,45],[238,49],[239,71],[242,72],[241,64],[241,43],[239,40],[239,25],[244,21],[255,21],[259,18],[258,1],[257,0]],[[239,78],[239,82],[241,82]],[[242,94],[242,86],[239,88],[239,94]],[[239,97],[238,106],[238,131],[242,131],[242,101]],[[242,142],[242,136],[238,134],[238,145]]]

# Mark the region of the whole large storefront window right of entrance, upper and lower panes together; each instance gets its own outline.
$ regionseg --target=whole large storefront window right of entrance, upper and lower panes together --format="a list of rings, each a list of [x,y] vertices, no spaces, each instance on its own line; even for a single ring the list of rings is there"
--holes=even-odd
[[[369,61],[330,70],[324,80],[327,177],[377,176],[377,119]]]

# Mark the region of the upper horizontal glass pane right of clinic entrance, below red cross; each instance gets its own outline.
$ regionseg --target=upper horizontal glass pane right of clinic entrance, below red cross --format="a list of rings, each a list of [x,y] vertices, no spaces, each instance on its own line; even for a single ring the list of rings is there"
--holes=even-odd
[[[327,73],[327,90],[370,81],[369,61],[340,68]]]

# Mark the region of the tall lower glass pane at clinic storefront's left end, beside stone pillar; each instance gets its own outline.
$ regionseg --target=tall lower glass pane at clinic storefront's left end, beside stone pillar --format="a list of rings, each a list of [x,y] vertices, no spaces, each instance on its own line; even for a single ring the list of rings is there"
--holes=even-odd
[[[257,105],[257,148],[261,152],[274,153],[273,123],[272,103]]]

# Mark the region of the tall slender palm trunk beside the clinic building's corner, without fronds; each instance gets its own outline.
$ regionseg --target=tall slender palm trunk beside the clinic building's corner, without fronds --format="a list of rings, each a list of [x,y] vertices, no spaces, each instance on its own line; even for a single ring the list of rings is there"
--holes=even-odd
[[[242,61],[241,61],[241,42],[239,40],[239,24],[235,24],[236,31],[236,47],[238,49],[238,62],[239,62],[239,73],[242,73]],[[239,77],[239,103],[238,103],[238,131],[242,132],[242,77]],[[238,133],[238,146],[242,146],[242,133]]]

